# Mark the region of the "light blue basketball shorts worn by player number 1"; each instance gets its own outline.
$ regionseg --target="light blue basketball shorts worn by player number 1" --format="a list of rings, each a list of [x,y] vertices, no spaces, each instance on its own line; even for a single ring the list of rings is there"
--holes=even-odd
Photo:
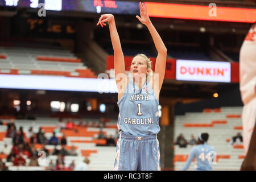
[[[120,133],[114,170],[160,171],[160,149],[156,135],[134,136]]]

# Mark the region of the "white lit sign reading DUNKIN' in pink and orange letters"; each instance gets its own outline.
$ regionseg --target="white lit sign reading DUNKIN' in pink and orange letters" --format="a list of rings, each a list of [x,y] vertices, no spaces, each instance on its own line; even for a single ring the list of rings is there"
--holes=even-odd
[[[176,80],[230,82],[230,63],[176,60]]]

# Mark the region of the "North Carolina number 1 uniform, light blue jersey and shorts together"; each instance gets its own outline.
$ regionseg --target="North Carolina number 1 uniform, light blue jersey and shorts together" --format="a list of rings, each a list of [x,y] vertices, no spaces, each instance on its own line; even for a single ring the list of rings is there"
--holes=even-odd
[[[149,82],[139,89],[129,81],[119,106],[114,170],[160,170],[159,102]]]

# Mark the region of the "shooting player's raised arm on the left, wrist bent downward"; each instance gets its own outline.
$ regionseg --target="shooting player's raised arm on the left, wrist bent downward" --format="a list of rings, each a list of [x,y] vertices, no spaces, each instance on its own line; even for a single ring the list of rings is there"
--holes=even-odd
[[[112,14],[104,14],[101,15],[100,19],[98,20],[98,24],[101,24],[101,27],[106,26],[104,22],[109,23],[109,31],[110,31],[110,38],[112,42],[112,46],[114,49],[114,67],[115,67],[115,81],[118,82],[121,81],[120,77],[117,77],[118,73],[123,73],[123,76],[125,75],[125,58],[123,57],[122,47],[119,39],[119,35],[117,32],[117,27],[115,26],[115,19],[114,15]],[[118,93],[120,93],[121,90],[118,88]],[[119,96],[118,96],[119,97]]]

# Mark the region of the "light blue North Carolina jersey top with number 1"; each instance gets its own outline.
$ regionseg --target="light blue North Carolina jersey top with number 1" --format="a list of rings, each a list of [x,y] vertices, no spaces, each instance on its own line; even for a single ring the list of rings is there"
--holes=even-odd
[[[119,131],[136,136],[159,133],[159,102],[149,82],[139,89],[133,81],[129,80],[126,91],[117,105]]]

